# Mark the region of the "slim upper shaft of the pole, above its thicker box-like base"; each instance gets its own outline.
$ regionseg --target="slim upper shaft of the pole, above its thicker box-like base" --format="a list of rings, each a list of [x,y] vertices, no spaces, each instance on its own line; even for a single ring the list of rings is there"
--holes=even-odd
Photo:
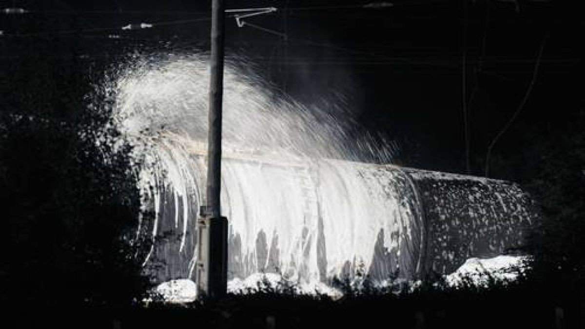
[[[211,84],[209,85],[209,136],[207,163],[207,206],[212,218],[219,218],[221,190],[221,128],[223,97],[223,0],[212,0]]]

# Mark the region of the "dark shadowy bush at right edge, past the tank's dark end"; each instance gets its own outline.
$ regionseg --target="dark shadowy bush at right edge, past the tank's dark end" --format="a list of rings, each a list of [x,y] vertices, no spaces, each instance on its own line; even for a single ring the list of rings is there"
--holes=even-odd
[[[563,122],[556,127],[559,130],[533,129],[527,138],[532,147],[525,151],[530,163],[525,186],[543,213],[526,245],[534,255],[531,278],[547,299],[580,308],[581,325],[585,325],[584,126],[581,115]]]

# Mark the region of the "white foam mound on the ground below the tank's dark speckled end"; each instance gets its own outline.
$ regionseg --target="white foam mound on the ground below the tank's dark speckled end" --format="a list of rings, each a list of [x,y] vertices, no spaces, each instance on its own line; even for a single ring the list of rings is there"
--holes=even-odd
[[[449,286],[457,287],[465,284],[486,287],[491,280],[511,282],[518,278],[526,269],[527,256],[497,256],[494,258],[470,258],[455,272],[446,275]]]

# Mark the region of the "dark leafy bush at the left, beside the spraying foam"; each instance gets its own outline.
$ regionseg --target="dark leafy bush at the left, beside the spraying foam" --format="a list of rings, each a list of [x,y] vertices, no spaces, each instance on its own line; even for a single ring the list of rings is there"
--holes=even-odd
[[[63,39],[12,42],[0,76],[0,301],[123,307],[144,292],[129,146],[106,67]]]

